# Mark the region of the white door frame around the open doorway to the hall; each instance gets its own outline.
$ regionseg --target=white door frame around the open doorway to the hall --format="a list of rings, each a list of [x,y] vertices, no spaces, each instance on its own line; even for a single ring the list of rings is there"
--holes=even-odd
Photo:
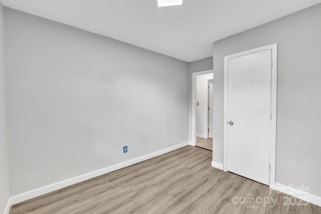
[[[196,76],[202,75],[202,74],[212,74],[212,70],[207,71],[199,71],[192,73],[192,146],[196,146]],[[214,77],[213,77],[214,78]]]

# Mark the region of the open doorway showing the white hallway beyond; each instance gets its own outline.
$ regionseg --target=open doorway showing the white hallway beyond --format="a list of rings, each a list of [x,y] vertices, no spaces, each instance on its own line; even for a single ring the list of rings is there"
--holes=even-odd
[[[213,150],[213,70],[193,74],[195,144]]]

